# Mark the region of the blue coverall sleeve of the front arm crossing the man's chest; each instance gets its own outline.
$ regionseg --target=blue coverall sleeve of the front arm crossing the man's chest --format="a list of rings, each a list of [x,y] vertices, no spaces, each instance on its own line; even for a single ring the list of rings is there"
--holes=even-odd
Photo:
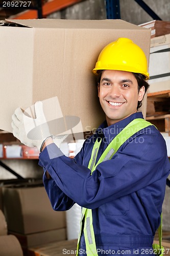
[[[59,149],[54,143],[48,145],[48,150],[55,155],[50,159],[45,148],[39,157],[43,167],[65,195],[91,209],[131,194],[169,172],[165,141],[159,133],[142,134],[125,143],[113,159],[100,163],[92,175],[90,169],[73,159],[58,157]]]

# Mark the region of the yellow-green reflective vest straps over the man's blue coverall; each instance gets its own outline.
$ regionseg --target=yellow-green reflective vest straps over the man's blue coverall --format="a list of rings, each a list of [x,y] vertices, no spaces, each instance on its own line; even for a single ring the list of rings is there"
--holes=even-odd
[[[127,141],[131,136],[133,136],[135,133],[139,132],[140,130],[144,129],[145,127],[148,127],[149,125],[152,125],[150,122],[145,121],[142,118],[137,118],[131,121],[119,134],[115,136],[115,138],[109,143],[106,150],[101,155],[99,161],[96,162],[96,157],[98,155],[99,147],[102,142],[101,138],[96,139],[92,152],[91,152],[91,158],[88,164],[88,168],[92,172],[96,169],[96,166],[100,164],[103,161],[111,159],[114,154],[117,152],[118,148],[123,145],[125,141]],[[81,218],[81,228],[78,238],[78,246],[77,246],[77,254],[79,253],[79,243],[80,243],[80,237],[82,233],[82,222],[84,219],[84,238],[85,238],[85,244],[86,244],[86,253],[87,256],[94,255],[98,256],[98,252],[95,245],[95,236],[94,236],[94,229],[92,224],[92,210],[87,208],[82,208],[82,218]]]

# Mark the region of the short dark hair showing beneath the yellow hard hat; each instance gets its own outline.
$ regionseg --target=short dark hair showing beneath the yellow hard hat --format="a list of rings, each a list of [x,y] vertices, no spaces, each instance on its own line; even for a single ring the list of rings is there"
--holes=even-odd
[[[101,81],[101,76],[102,76],[102,73],[103,73],[104,70],[101,70],[99,72],[99,75],[96,77],[97,78],[97,83],[99,84],[100,81]],[[134,75],[134,77],[136,78],[137,80],[137,84],[138,84],[138,92],[140,91],[140,88],[142,86],[144,86],[144,94],[147,92],[148,88],[150,87],[149,83],[147,81],[145,81],[145,76],[140,74],[140,73],[133,73],[132,74]],[[141,107],[142,105],[142,100],[141,101],[138,101],[137,103],[137,110]]]

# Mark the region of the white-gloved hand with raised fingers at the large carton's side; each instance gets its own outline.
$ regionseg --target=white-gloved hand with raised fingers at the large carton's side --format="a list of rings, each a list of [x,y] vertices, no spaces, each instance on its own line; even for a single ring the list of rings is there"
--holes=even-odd
[[[12,115],[13,135],[27,146],[40,147],[43,141],[50,137],[50,131],[43,113],[41,101],[34,104],[36,118],[25,115],[20,108]]]

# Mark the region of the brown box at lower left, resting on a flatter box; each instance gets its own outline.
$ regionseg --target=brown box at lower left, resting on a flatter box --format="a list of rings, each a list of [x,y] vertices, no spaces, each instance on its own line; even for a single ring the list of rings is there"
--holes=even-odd
[[[3,187],[8,230],[31,234],[66,227],[65,212],[54,211],[44,187]]]

